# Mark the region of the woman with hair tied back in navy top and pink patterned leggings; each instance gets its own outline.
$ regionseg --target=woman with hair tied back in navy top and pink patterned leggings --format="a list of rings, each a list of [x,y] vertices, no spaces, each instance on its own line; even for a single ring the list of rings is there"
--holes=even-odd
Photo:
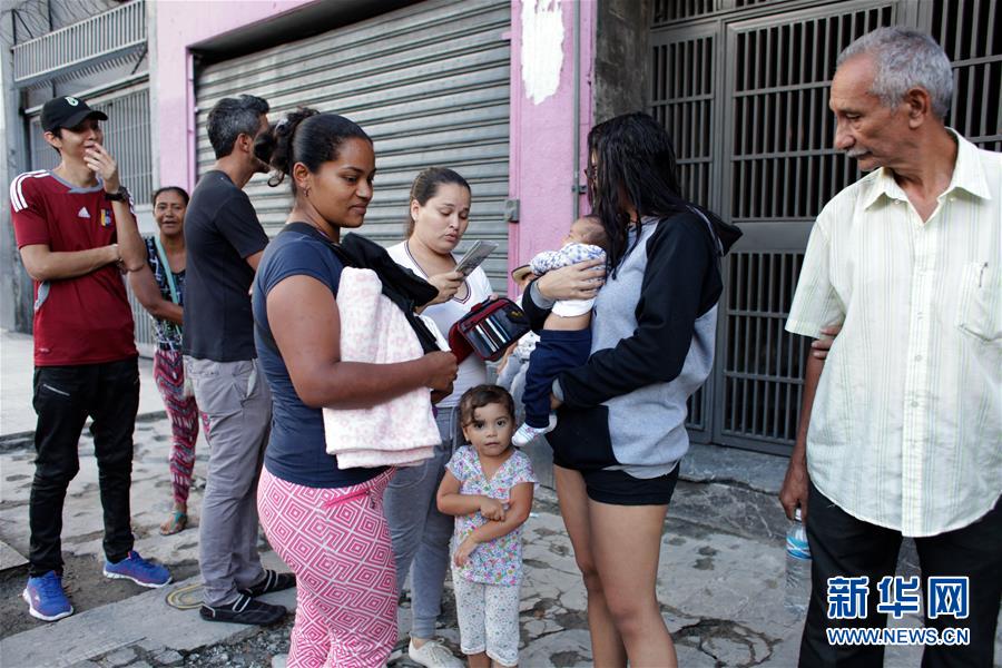
[[[291,177],[295,204],[261,258],[252,296],[258,361],[272,391],[257,505],[268,542],[296,573],[287,665],[381,668],[396,641],[396,569],[383,514],[394,469],[338,468],[326,452],[321,407],[367,407],[412,391],[448,390],[455,357],[341,360],[344,265],[332,246],[342,228],[365,217],[372,140],[351,120],[311,109],[291,114],[272,132],[272,181]]]

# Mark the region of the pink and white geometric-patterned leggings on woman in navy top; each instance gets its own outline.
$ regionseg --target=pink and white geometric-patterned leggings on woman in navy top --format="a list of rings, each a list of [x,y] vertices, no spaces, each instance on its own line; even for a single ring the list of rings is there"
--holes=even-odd
[[[396,642],[396,566],[383,517],[394,470],[348,488],[308,488],[262,469],[257,512],[296,573],[288,668],[375,668]]]

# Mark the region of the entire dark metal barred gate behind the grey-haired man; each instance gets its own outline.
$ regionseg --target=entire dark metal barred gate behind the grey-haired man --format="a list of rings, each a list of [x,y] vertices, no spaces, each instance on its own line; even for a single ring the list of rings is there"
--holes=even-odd
[[[880,27],[930,32],[954,66],[949,125],[1002,149],[1002,10],[993,0],[657,0],[650,109],[687,194],[745,232],[725,267],[716,367],[696,441],[785,454],[808,342],[784,331],[811,226],[859,178],[833,148],[838,52]]]

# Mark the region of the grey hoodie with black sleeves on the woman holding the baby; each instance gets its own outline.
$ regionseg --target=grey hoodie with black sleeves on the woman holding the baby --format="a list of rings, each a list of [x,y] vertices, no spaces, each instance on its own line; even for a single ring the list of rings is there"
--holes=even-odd
[[[686,401],[713,367],[723,282],[698,214],[645,218],[635,240],[596,299],[591,357],[558,377],[564,403],[547,440],[563,464],[648,479],[688,450]],[[523,306],[538,323],[546,308],[530,294]]]

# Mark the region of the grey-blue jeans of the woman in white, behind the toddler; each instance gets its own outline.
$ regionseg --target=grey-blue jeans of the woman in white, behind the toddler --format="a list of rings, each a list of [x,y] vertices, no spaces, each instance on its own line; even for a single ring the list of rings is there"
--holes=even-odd
[[[411,636],[414,638],[434,636],[435,620],[442,611],[454,519],[439,512],[435,493],[456,441],[462,441],[456,420],[456,410],[439,410],[435,422],[442,443],[435,446],[434,456],[419,466],[397,470],[383,495],[399,590],[403,590],[407,573],[411,574]]]

